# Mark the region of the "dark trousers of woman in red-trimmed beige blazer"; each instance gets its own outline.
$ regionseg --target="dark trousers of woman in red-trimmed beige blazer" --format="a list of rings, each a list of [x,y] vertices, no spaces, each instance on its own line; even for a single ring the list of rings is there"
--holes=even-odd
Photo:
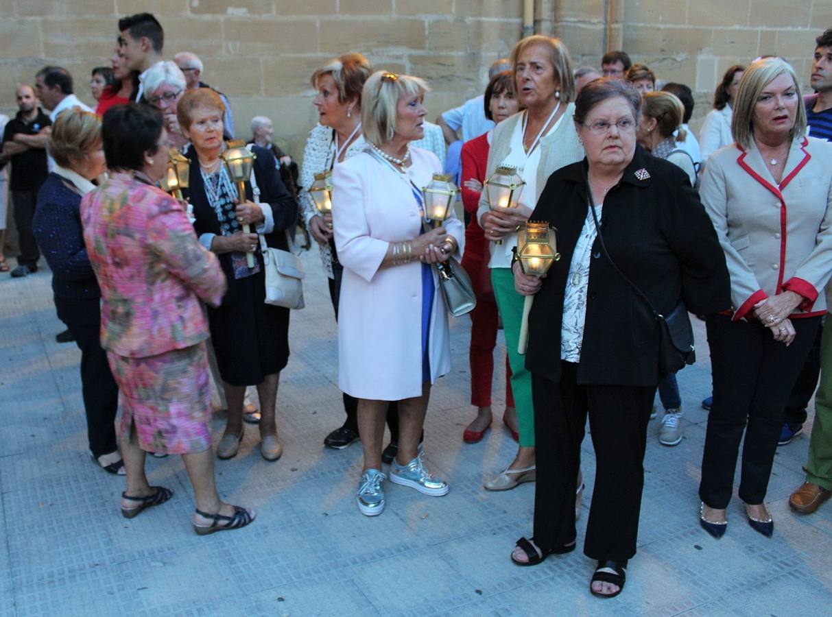
[[[740,499],[753,505],[765,500],[783,410],[815,341],[820,317],[791,323],[797,334],[786,347],[760,323],[732,322],[725,315],[706,319],[714,381],[699,485],[706,506],[728,506],[743,431]]]

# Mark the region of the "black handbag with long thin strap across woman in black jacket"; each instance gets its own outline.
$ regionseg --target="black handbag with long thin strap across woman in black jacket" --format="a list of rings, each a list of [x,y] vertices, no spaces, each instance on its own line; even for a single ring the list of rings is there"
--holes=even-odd
[[[601,234],[601,225],[598,225],[595,205],[592,204],[592,200],[589,195],[592,195],[592,192],[589,189],[589,183],[587,182],[587,204],[589,205],[590,210],[592,210],[592,221],[595,223],[595,230],[598,234],[598,243],[601,244],[601,250],[604,257],[607,259],[607,263],[609,263],[612,266],[612,269],[618,273],[624,282],[628,284],[642,300],[644,300],[647,308],[650,309],[652,318],[656,322],[656,327],[659,328],[659,376],[664,377],[665,375],[676,373],[676,371],[683,368],[687,364],[695,363],[696,347],[693,340],[693,327],[691,326],[691,318],[688,316],[685,301],[680,298],[676,303],[676,306],[673,307],[673,310],[668,315],[662,315],[656,310],[644,292],[641,291],[635,283],[628,279],[626,274],[618,269],[616,263],[612,261],[610,254],[607,253],[607,246],[604,244],[604,237]]]

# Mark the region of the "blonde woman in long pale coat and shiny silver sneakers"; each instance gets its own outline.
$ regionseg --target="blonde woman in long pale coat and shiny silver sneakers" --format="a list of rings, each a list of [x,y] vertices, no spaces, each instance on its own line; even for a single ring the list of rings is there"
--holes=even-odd
[[[399,450],[390,481],[430,496],[448,493],[418,455],[430,386],[448,373],[448,315],[430,264],[460,259],[463,225],[453,214],[422,233],[419,189],[442,165],[409,147],[423,137],[418,77],[376,72],[364,85],[366,151],[335,166],[335,247],[344,266],[339,305],[339,386],[359,399],[364,469],[356,501],[367,516],[384,510],[384,414],[399,401]]]

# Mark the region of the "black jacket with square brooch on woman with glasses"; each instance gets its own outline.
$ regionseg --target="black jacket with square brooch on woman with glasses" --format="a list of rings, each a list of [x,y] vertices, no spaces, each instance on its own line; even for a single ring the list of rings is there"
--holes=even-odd
[[[557,229],[561,259],[543,279],[532,305],[526,368],[554,382],[561,378],[563,296],[587,217],[587,191],[584,159],[549,177],[531,216]],[[686,173],[676,165],[636,146],[622,180],[604,199],[601,233],[612,260],[660,313],[669,313],[680,297],[691,313],[730,307],[725,254]],[[578,383],[656,386],[658,343],[649,308],[612,269],[596,239]]]

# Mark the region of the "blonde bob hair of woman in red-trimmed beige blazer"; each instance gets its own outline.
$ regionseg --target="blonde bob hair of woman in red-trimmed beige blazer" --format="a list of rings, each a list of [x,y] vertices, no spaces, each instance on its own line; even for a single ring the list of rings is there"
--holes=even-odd
[[[731,118],[730,131],[734,140],[745,148],[751,147],[754,142],[754,107],[757,99],[771,81],[780,75],[788,75],[795,84],[797,101],[797,116],[795,126],[789,131],[789,140],[795,141],[806,132],[806,110],[803,101],[800,100],[800,84],[797,82],[795,69],[782,58],[768,57],[756,62],[751,62],[750,67],[745,69],[740,79],[740,88],[736,92],[734,101],[734,116]]]

